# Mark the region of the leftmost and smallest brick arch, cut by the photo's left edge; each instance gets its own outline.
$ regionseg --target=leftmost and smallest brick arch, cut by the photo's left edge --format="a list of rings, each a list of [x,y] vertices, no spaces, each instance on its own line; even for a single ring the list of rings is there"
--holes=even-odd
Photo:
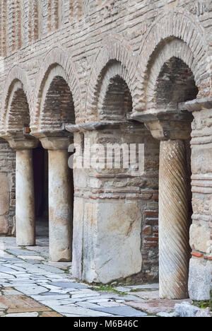
[[[1,132],[5,132],[7,129],[8,115],[9,115],[8,108],[9,105],[11,104],[11,100],[13,99],[13,95],[20,89],[22,89],[23,93],[25,94],[30,112],[30,117],[32,117],[33,115],[32,87],[27,74],[25,74],[25,71],[23,69],[20,69],[20,67],[15,66],[13,67],[13,69],[11,69],[11,71],[7,76],[6,84],[3,91],[4,99],[2,101],[2,106],[1,106],[1,125],[0,125]]]

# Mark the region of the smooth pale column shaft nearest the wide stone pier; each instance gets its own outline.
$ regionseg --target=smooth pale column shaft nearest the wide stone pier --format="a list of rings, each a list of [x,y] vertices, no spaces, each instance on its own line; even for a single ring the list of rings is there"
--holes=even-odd
[[[49,259],[71,261],[72,208],[68,151],[49,150]]]

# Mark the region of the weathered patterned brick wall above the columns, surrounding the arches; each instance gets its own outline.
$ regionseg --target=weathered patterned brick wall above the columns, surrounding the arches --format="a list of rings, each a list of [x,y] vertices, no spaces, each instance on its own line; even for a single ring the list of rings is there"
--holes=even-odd
[[[13,95],[20,90],[28,100],[31,129],[39,131],[45,124],[54,127],[54,117],[51,122],[49,114],[46,122],[39,120],[45,118],[49,75],[52,79],[60,76],[69,85],[73,98],[69,103],[73,101],[76,123],[98,120],[104,69],[114,59],[122,64],[119,70],[131,93],[134,111],[151,106],[148,95],[153,91],[160,61],[167,54],[177,56],[179,50],[179,57],[194,74],[198,98],[211,96],[212,4],[209,0],[1,0],[0,19],[1,134],[9,128],[7,114],[11,116]],[[19,129],[23,125],[21,119],[20,115]],[[62,122],[64,117],[57,120]],[[3,172],[13,174],[12,154],[7,152],[9,162],[2,168]],[[10,192],[12,197],[14,188]],[[206,199],[210,199],[208,194]],[[146,202],[142,235],[143,268],[153,276],[155,271],[149,266],[158,263],[157,199],[155,192]],[[10,210],[12,217],[12,207]],[[206,210],[207,206],[201,214],[207,214]],[[211,226],[208,221],[207,224]]]

